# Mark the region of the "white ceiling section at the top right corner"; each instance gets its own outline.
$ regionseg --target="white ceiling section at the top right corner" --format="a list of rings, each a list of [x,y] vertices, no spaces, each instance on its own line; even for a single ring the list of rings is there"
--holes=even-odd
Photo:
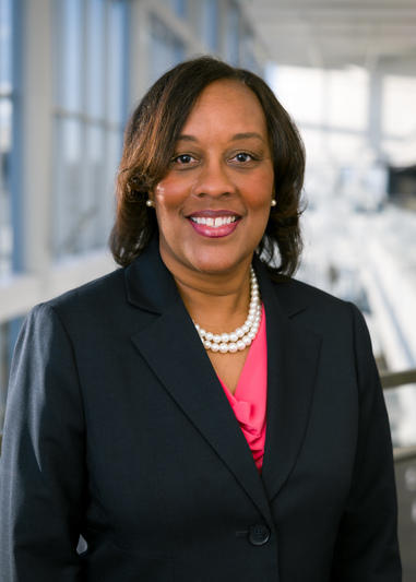
[[[416,0],[240,0],[281,64],[373,68],[379,59],[416,60]]]

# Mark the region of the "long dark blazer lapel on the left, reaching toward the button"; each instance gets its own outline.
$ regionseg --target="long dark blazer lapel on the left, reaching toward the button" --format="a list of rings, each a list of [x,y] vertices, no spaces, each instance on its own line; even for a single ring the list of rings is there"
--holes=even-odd
[[[154,313],[133,335],[135,347],[273,527],[251,451],[154,239],[126,282],[129,300]]]

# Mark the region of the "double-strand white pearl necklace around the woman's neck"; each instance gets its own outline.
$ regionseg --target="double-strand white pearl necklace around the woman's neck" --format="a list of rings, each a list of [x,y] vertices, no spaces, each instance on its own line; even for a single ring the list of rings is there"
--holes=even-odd
[[[259,284],[254,269],[250,266],[250,306],[247,320],[241,328],[237,328],[231,333],[214,334],[203,330],[198,323],[193,322],[205,349],[212,352],[227,352],[235,354],[236,352],[246,349],[251,344],[258,334],[261,322],[261,299],[259,293]]]

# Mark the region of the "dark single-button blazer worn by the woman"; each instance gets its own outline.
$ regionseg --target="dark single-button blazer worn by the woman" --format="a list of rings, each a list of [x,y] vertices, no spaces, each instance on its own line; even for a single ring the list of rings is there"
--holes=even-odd
[[[258,259],[255,270],[269,353],[261,476],[157,241],[32,311],[5,418],[1,582],[401,580],[362,317],[272,283]]]

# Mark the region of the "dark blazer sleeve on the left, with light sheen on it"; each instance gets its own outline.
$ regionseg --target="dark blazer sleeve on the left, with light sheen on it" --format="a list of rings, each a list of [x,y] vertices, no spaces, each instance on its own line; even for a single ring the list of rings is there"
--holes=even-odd
[[[11,369],[0,476],[2,582],[81,580],[84,449],[72,345],[45,304],[23,325]]]

